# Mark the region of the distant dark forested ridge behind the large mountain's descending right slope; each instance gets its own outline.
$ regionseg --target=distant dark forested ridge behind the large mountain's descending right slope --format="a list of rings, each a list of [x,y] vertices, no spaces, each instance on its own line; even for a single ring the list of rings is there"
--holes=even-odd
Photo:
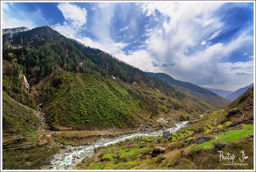
[[[229,102],[227,99],[218,96],[217,94],[215,94],[210,90],[204,89],[190,82],[183,82],[183,81],[176,80],[171,76],[169,76],[168,74],[151,73],[151,72],[148,72],[147,74],[161,79],[162,81],[166,82],[168,85],[175,87],[177,90],[188,93],[188,96],[190,96],[191,98],[197,98],[198,100],[201,100],[204,103],[208,103],[210,106],[220,108],[223,105],[228,104]]]

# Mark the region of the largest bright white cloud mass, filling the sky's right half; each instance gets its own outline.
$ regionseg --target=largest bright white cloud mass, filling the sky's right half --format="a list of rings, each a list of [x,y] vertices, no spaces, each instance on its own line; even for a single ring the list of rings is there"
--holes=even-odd
[[[234,51],[252,44],[253,36],[249,35],[248,30],[225,43],[213,41],[225,28],[224,21],[216,15],[222,5],[223,3],[142,4],[145,16],[156,18],[158,13],[165,16],[162,25],[153,28],[152,34],[145,41],[153,67],[179,80],[201,86],[212,85],[219,89],[227,84],[234,84],[236,86],[230,88],[235,88],[239,84],[251,82],[252,61],[223,63],[223,59],[231,58]],[[204,46],[195,50],[194,47],[200,44]],[[175,61],[176,65],[175,68],[165,68],[157,61],[164,61],[166,64]],[[241,83],[235,84],[237,80]]]

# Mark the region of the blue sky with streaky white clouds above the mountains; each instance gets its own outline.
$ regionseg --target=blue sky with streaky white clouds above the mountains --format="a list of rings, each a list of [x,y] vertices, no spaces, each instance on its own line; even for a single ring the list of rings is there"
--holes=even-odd
[[[253,3],[3,3],[3,28],[50,26],[147,72],[237,90],[253,83]]]

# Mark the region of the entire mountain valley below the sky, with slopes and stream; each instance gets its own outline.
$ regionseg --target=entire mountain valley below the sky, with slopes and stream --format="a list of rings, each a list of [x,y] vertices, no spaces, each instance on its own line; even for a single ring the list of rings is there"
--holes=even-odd
[[[253,168],[253,86],[230,102],[48,26],[4,34],[2,72],[4,169]]]

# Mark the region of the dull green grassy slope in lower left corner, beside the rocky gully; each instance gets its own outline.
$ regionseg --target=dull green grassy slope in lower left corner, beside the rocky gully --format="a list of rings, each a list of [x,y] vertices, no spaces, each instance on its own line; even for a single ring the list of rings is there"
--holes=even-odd
[[[39,119],[35,110],[11,99],[3,92],[3,169],[41,169],[59,146],[37,145],[43,138],[39,133]]]

